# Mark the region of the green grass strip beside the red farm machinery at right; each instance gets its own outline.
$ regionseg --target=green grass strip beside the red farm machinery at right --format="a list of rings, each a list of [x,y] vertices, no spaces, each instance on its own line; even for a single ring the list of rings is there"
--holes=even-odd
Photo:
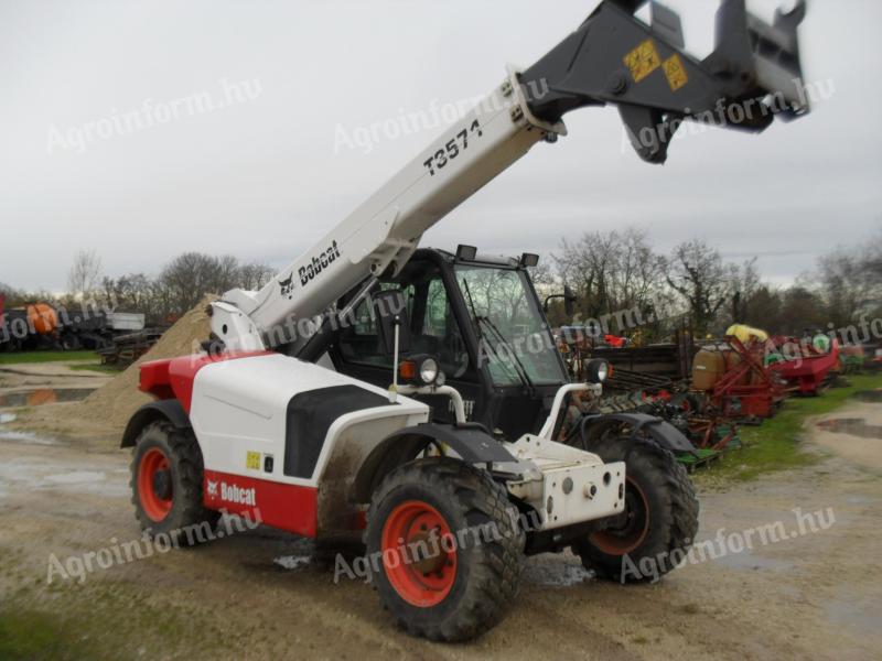
[[[816,463],[818,456],[799,447],[806,420],[857,401],[856,392],[882,388],[882,375],[849,376],[848,381],[851,383],[848,388],[831,388],[820,397],[793,397],[775,418],[756,427],[742,426],[739,435],[744,448],[728,454],[706,474],[714,478],[751,480],[764,473]]]

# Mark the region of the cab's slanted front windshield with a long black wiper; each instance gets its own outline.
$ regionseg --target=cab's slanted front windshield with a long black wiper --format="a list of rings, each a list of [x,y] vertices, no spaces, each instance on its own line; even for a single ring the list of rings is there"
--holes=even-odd
[[[480,358],[487,361],[493,382],[496,386],[566,382],[567,376],[530,292],[527,274],[472,264],[456,264],[455,270],[465,306],[481,338]]]

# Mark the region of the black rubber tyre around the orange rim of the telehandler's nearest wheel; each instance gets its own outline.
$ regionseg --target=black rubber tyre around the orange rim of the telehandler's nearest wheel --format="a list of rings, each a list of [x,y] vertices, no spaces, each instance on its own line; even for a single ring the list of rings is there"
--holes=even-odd
[[[386,532],[387,525],[394,527],[399,520],[396,512],[415,502],[433,508],[455,539],[459,531],[467,531],[462,535],[463,543],[455,545],[453,559],[440,553],[427,561],[447,557],[442,565],[453,564],[453,577],[444,577],[449,581],[445,595],[433,595],[440,602],[422,606],[402,596],[406,590],[399,592],[391,582],[396,579],[395,567],[380,560],[385,556],[385,534],[404,539],[395,528]],[[524,567],[525,535],[517,517],[506,490],[486,472],[462,462],[443,457],[417,459],[387,475],[370,502],[366,543],[367,557],[377,559],[368,563],[374,587],[396,622],[412,636],[447,642],[473,639],[499,622],[514,603]],[[416,519],[408,525],[417,530]],[[485,531],[495,529],[498,534],[480,533],[481,543],[475,543],[475,532],[482,530],[475,527],[486,527]],[[421,581],[416,565],[415,562],[401,565],[407,568],[398,574],[399,585],[402,574],[415,577],[405,581]]]

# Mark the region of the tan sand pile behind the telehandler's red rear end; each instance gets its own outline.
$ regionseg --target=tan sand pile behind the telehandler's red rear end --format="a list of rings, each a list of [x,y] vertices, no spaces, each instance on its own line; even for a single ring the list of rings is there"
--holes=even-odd
[[[140,364],[198,351],[200,344],[208,338],[208,315],[205,314],[205,308],[215,300],[217,296],[206,295],[169,328],[152,349],[112,381],[83,400],[72,413],[77,418],[114,427],[115,432],[121,434],[131,414],[152,399],[138,390]]]

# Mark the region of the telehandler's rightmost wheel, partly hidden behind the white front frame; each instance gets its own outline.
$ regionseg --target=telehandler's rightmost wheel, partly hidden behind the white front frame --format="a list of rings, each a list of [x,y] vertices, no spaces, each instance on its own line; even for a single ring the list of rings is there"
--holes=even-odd
[[[625,512],[573,544],[585,568],[621,583],[653,582],[682,561],[698,532],[698,499],[686,468],[645,438],[605,435],[589,452],[625,462]]]

